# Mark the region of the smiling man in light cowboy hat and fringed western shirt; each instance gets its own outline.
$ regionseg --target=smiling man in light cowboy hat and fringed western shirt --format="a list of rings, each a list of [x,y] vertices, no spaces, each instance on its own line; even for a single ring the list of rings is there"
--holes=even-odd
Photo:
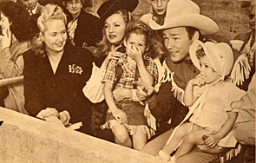
[[[187,82],[199,74],[199,70],[191,62],[189,47],[192,42],[199,40],[200,36],[217,33],[219,27],[212,19],[200,15],[200,8],[190,0],[170,0],[163,25],[153,20],[150,20],[149,25],[154,30],[162,30],[169,55],[163,63],[164,73],[158,94],[152,94],[154,89],[145,83],[137,82],[139,98],[148,97],[148,105],[155,118],[170,123],[169,127],[175,127],[187,114],[187,108],[183,104]],[[171,133],[172,130],[168,130],[150,141],[142,152],[156,155]],[[200,153],[195,148],[177,161],[208,162],[216,158],[217,155]]]

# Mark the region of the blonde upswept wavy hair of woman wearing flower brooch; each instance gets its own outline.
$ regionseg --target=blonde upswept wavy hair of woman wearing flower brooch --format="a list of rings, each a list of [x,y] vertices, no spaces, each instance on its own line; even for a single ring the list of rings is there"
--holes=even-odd
[[[62,8],[56,4],[47,4],[43,7],[41,16],[37,19],[37,25],[40,30],[39,35],[33,40],[33,50],[36,55],[43,55],[45,49],[45,43],[43,42],[43,34],[47,30],[45,23],[50,20],[62,20],[65,25],[67,25],[67,16],[62,11]]]

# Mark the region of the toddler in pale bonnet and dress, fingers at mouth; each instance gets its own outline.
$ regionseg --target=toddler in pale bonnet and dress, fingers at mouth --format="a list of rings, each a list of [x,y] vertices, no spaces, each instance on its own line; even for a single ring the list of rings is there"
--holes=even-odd
[[[233,67],[233,51],[226,43],[196,41],[189,52],[200,75],[187,83],[184,102],[190,107],[189,113],[159,152],[161,158],[172,162],[195,145],[208,153],[219,153],[220,147],[235,147],[237,141],[231,130],[238,110],[230,105],[245,94],[233,83],[224,81]]]

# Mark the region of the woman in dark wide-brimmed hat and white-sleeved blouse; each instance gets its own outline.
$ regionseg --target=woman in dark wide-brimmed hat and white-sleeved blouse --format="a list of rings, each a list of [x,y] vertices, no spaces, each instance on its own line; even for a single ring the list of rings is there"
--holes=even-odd
[[[106,113],[107,105],[103,96],[102,77],[111,59],[117,60],[124,52],[123,39],[126,35],[128,24],[132,20],[131,12],[138,5],[138,0],[109,0],[102,3],[97,14],[100,18],[92,25],[95,29],[102,30],[102,41],[98,42],[98,53],[95,56],[93,75],[83,93],[90,101],[95,103],[92,107],[92,126],[95,134],[100,131],[102,115]],[[99,103],[100,102],[100,103]],[[103,136],[104,137],[104,136]]]

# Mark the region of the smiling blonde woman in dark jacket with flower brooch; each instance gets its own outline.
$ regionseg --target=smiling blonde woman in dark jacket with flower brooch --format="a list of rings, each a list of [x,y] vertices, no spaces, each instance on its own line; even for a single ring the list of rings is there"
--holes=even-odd
[[[32,116],[58,118],[70,127],[82,122],[79,131],[90,134],[90,102],[82,87],[91,75],[93,55],[69,42],[66,23],[60,7],[43,8],[38,42],[23,55],[25,108]]]

